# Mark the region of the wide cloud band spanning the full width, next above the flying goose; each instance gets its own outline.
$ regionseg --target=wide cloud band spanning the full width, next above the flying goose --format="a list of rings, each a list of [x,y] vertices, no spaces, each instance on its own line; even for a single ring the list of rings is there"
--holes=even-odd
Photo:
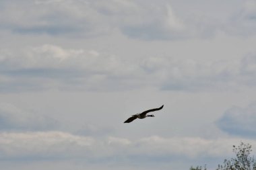
[[[113,91],[153,87],[222,91],[255,87],[255,55],[199,62],[150,56],[130,60],[96,50],[42,46],[0,51],[1,91],[79,89]],[[152,81],[154,79],[154,81]]]

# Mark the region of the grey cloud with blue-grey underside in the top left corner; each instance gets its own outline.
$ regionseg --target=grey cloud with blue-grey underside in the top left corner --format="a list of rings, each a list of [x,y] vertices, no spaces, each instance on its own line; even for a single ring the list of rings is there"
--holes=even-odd
[[[18,34],[88,37],[108,32],[103,15],[88,1],[15,1],[5,3],[0,13],[1,29]]]

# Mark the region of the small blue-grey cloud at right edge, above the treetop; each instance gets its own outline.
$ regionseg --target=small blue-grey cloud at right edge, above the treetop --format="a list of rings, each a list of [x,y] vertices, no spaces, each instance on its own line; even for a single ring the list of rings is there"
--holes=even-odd
[[[246,108],[233,107],[227,110],[216,122],[218,127],[228,134],[255,138],[256,135],[256,104]]]

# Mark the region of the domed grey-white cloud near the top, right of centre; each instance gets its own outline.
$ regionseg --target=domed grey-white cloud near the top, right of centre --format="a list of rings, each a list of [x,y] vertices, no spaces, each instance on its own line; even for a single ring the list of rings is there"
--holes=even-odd
[[[170,5],[143,4],[139,7],[141,10],[125,16],[128,22],[121,25],[123,34],[144,40],[171,40],[190,36],[182,19],[174,14]]]

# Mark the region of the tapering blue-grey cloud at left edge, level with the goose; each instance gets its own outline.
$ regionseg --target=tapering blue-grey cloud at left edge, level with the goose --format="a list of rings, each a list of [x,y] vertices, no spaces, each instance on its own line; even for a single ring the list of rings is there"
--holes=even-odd
[[[65,114],[61,114],[59,118],[59,116],[56,117],[56,112],[50,115],[45,112],[26,110],[11,103],[0,103],[0,133],[62,130],[86,136],[106,136],[114,131],[110,126],[86,122],[84,117],[83,121],[73,120],[73,117],[66,119]]]

